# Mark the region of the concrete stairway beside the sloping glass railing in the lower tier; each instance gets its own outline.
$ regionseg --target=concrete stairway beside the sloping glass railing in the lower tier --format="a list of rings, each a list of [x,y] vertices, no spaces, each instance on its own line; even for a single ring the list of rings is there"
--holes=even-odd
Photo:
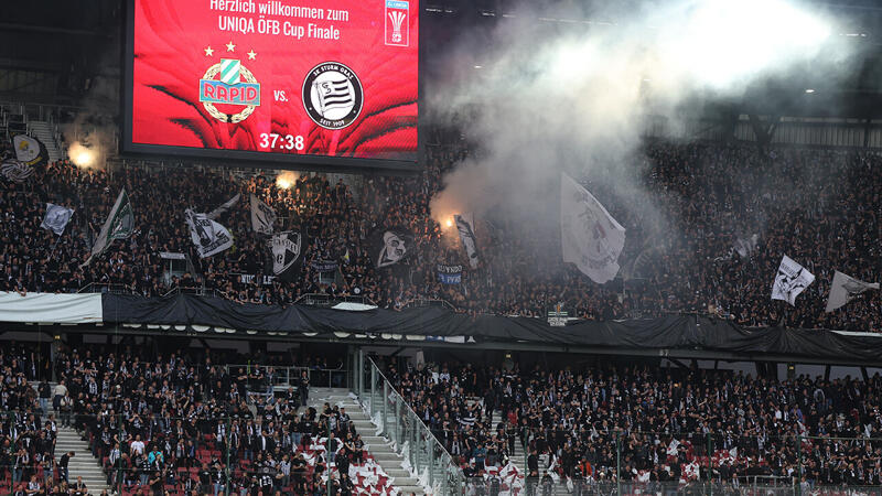
[[[311,407],[321,411],[325,401],[331,403],[332,407],[337,405],[346,408],[346,413],[349,414],[355,430],[362,435],[367,452],[374,456],[374,460],[383,467],[386,474],[394,478],[392,485],[395,488],[407,496],[411,493],[418,496],[426,494],[419,482],[401,467],[405,459],[391,449],[386,438],[374,435],[377,432],[377,428],[370,422],[367,413],[362,410],[361,405],[349,396],[348,389],[310,388],[309,405]]]

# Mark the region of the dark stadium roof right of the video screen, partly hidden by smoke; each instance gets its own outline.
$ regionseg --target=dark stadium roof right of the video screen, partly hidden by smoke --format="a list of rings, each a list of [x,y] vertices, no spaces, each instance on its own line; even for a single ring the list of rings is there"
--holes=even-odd
[[[645,6],[642,0],[614,2],[617,12]],[[515,17],[514,0],[429,0],[424,3],[431,36],[450,41],[458,31],[490,33],[497,23]],[[544,2],[547,13],[535,13],[538,22],[558,23],[562,30],[615,30],[620,19],[606,14],[609,1]],[[712,109],[728,112],[789,117],[882,118],[882,4],[873,0],[805,1],[809,8],[836,21],[832,35],[846,43],[852,55],[797,67],[795,73],[757,82],[742,97],[712,101]],[[541,8],[534,7],[534,12]],[[462,26],[467,26],[463,30]],[[743,35],[750,36],[745,25]],[[490,42],[490,34],[487,34]],[[450,43],[441,43],[440,51]],[[491,68],[491,61],[476,62]],[[431,64],[431,61],[430,61]],[[469,65],[472,67],[472,65]],[[698,103],[703,104],[703,103]],[[716,114],[716,110],[714,110]]]

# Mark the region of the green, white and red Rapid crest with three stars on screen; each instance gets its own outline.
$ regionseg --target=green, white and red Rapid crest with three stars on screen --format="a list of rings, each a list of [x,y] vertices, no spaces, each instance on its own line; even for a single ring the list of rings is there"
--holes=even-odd
[[[226,52],[234,52],[236,45],[230,41],[226,44]],[[205,56],[211,57],[214,50],[204,48]],[[254,50],[248,52],[248,58],[254,61],[257,54]],[[200,79],[200,101],[212,117],[220,122],[238,123],[247,119],[260,106],[260,84],[255,75],[248,71],[237,58],[220,58],[212,65]],[[243,106],[236,114],[224,114],[217,109],[216,104]]]

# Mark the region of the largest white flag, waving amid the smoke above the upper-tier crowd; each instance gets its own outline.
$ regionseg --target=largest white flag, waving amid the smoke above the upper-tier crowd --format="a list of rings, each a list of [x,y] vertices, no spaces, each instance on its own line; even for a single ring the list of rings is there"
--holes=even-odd
[[[625,228],[567,174],[560,181],[560,237],[563,261],[576,263],[592,281],[602,284],[619,273]]]

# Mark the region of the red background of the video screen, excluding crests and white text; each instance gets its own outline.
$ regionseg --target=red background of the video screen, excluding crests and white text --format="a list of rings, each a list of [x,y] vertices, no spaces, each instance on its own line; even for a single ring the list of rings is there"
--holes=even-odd
[[[267,0],[254,1],[257,7]],[[284,6],[340,9],[348,21],[265,15],[279,34],[260,33],[261,15],[213,10],[211,0],[136,0],[132,68],[132,143],[268,153],[412,160],[417,157],[418,0],[409,1],[409,46],[387,40],[385,0],[281,0]],[[217,3],[215,3],[217,6]],[[254,32],[224,31],[218,18],[246,18]],[[283,22],[306,29],[333,25],[340,40],[297,39]],[[402,28],[404,31],[404,28]],[[227,44],[235,45],[230,52]],[[211,47],[213,53],[206,54]],[[249,52],[256,53],[249,60]],[[239,123],[212,117],[200,101],[200,79],[220,58],[241,61],[260,84],[260,106]],[[319,64],[348,66],[362,83],[364,107],[344,129],[329,130],[308,116],[301,90]],[[287,101],[276,98],[284,91]],[[235,114],[244,107],[216,105]],[[303,138],[303,150],[262,148],[261,134]],[[282,139],[278,144],[284,142]]]

